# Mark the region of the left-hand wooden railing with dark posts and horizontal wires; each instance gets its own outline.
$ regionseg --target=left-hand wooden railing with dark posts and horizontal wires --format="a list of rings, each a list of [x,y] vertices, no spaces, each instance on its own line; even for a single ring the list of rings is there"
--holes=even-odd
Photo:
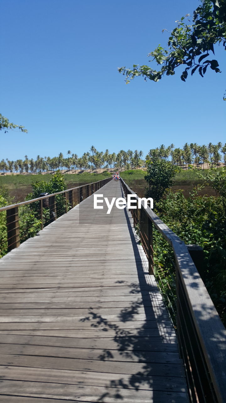
[[[31,236],[36,235],[40,229],[43,229],[43,226],[53,222],[62,214],[67,213],[68,210],[82,202],[86,197],[92,195],[92,193],[100,189],[111,179],[112,177],[0,208],[0,214],[6,212],[6,252],[18,247],[21,240],[24,241],[29,238],[27,234],[30,233]],[[31,210],[27,211],[28,216],[31,217],[31,225],[24,229],[25,236],[20,236],[19,209],[27,205],[31,208]],[[21,217],[23,213],[21,213]]]

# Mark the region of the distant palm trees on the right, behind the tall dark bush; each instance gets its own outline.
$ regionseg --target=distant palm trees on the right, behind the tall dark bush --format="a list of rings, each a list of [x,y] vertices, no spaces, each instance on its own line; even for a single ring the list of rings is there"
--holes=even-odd
[[[151,149],[146,156],[147,159],[171,159],[173,164],[187,167],[189,165],[203,168],[204,164],[207,167],[219,166],[220,162],[226,165],[226,143],[221,142],[216,145],[209,143],[208,145],[198,145],[197,143],[185,143],[183,148],[175,148],[174,144],[165,147],[164,144],[160,147]]]

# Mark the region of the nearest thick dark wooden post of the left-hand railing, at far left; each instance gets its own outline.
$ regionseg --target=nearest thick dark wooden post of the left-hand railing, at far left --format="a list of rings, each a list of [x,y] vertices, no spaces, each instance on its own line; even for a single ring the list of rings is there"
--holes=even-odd
[[[18,207],[6,211],[8,252],[20,245]]]

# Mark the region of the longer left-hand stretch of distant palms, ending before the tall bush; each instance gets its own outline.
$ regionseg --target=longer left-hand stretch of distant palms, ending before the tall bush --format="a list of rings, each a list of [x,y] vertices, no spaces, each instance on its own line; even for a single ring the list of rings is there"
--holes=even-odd
[[[37,173],[60,169],[67,172],[80,170],[101,173],[103,170],[136,169],[145,165],[142,155],[143,152],[138,150],[121,150],[117,154],[110,154],[109,150],[99,152],[92,145],[89,152],[85,152],[80,158],[70,150],[67,152],[67,158],[64,158],[62,153],[53,158],[38,155],[36,160],[29,159],[27,155],[24,160],[10,161],[6,158],[0,161],[0,172]]]

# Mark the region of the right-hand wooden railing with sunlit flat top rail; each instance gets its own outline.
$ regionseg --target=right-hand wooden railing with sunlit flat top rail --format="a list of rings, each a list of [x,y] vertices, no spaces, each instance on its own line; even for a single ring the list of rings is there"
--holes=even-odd
[[[191,402],[226,402],[226,329],[195,267],[185,243],[164,224],[153,210],[138,210],[138,196],[121,179],[125,197],[134,194],[137,209],[132,209],[134,227],[146,252],[149,273],[155,274],[153,229],[167,241],[175,258],[176,319],[179,352]],[[154,225],[154,228],[153,228]]]

